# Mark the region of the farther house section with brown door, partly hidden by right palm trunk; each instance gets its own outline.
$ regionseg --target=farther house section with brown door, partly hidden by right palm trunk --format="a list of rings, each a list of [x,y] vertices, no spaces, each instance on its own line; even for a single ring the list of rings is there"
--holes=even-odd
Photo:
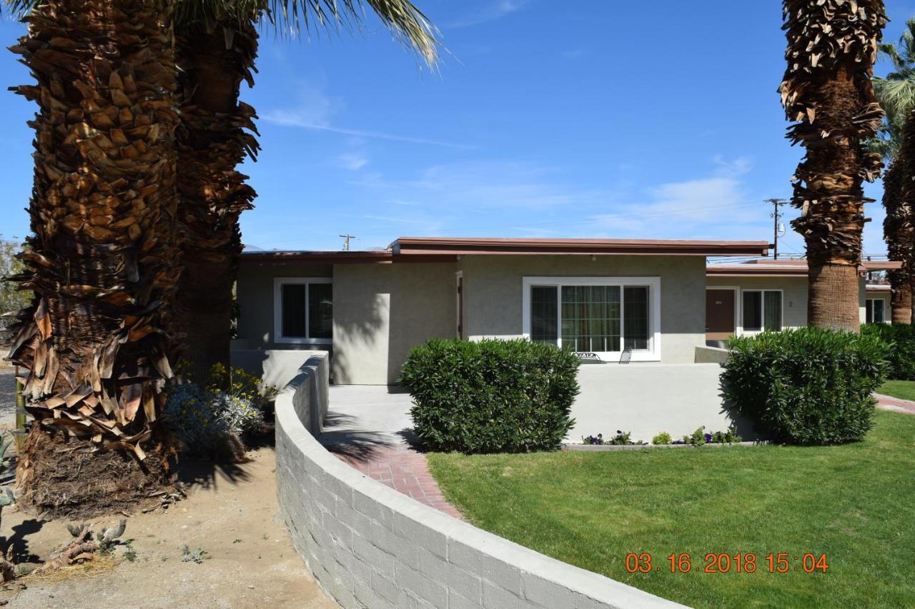
[[[867,261],[859,271],[861,323],[888,323],[889,286],[868,275],[901,267],[900,262]],[[728,337],[807,325],[807,261],[753,260],[709,264],[706,269],[705,327],[708,344]]]

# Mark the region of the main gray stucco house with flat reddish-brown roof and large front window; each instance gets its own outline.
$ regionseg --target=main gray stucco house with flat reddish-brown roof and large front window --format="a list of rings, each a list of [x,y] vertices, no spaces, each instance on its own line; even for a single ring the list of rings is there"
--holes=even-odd
[[[233,348],[328,349],[340,384],[394,382],[431,337],[527,337],[604,361],[693,363],[709,256],[766,241],[401,238],[242,254]],[[769,301],[767,301],[769,302]]]

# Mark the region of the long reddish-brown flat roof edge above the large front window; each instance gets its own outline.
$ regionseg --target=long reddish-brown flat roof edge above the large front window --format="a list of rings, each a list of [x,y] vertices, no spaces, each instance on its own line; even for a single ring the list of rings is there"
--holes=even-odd
[[[464,255],[613,255],[642,256],[766,256],[767,241],[639,240],[639,239],[502,239],[465,237],[401,237],[391,244],[398,256]]]

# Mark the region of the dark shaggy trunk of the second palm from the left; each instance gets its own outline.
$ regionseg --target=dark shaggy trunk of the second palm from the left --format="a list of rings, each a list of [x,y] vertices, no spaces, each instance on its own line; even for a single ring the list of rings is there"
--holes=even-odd
[[[256,156],[254,110],[239,102],[242,80],[253,85],[257,31],[236,17],[181,32],[178,84],[178,193],[185,272],[178,288],[178,326],[190,373],[205,379],[214,364],[230,365],[232,287],[242,251],[239,216],[253,208],[248,176],[236,170]],[[253,134],[252,134],[253,133]]]

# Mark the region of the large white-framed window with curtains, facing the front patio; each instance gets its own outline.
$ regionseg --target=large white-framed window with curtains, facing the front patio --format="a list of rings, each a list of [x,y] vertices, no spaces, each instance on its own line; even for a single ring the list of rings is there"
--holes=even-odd
[[[524,277],[522,333],[605,359],[661,359],[660,277]]]

